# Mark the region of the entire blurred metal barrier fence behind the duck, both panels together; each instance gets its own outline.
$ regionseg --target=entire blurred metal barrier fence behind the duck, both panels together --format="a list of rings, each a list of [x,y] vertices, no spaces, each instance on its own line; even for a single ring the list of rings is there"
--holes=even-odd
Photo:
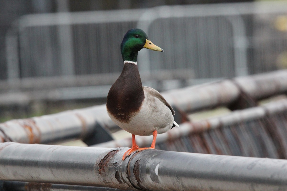
[[[286,12],[287,3],[276,1],[26,15],[6,38],[8,78],[120,72],[119,44],[132,27],[165,50],[142,50],[141,72],[222,78],[271,71],[285,66]]]

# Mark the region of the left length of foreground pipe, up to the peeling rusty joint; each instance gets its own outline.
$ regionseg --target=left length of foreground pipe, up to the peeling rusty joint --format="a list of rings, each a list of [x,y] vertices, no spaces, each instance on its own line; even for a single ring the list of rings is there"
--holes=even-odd
[[[125,150],[0,143],[0,179],[133,189],[126,177],[117,180]]]

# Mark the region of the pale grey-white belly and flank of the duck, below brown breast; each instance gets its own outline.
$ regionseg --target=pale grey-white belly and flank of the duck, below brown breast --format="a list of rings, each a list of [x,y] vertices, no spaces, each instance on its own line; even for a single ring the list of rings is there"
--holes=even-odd
[[[128,123],[120,122],[113,115],[110,118],[122,129],[134,135],[152,135],[153,131],[165,133],[173,125],[173,115],[170,109],[157,98],[145,98],[141,109]]]

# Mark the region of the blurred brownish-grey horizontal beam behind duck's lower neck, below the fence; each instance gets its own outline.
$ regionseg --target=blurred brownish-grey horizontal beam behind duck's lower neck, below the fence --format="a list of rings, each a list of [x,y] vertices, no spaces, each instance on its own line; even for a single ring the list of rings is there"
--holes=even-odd
[[[172,80],[172,79],[189,79],[193,77],[191,70],[161,70],[160,74],[148,74],[141,73],[141,80]],[[21,81],[12,81],[11,86],[19,88],[21,90],[41,90],[41,89],[55,89],[55,88],[67,88],[75,86],[99,86],[110,85],[117,80],[120,73],[102,74],[85,74],[76,76],[53,76],[53,77],[30,77],[22,78]],[[6,80],[0,80],[0,89],[9,90],[10,87]]]

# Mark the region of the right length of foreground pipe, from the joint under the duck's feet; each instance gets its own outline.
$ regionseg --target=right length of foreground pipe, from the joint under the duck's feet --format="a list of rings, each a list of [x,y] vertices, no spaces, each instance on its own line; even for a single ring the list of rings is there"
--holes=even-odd
[[[147,190],[284,190],[286,160],[148,150],[131,158],[131,182]]]

